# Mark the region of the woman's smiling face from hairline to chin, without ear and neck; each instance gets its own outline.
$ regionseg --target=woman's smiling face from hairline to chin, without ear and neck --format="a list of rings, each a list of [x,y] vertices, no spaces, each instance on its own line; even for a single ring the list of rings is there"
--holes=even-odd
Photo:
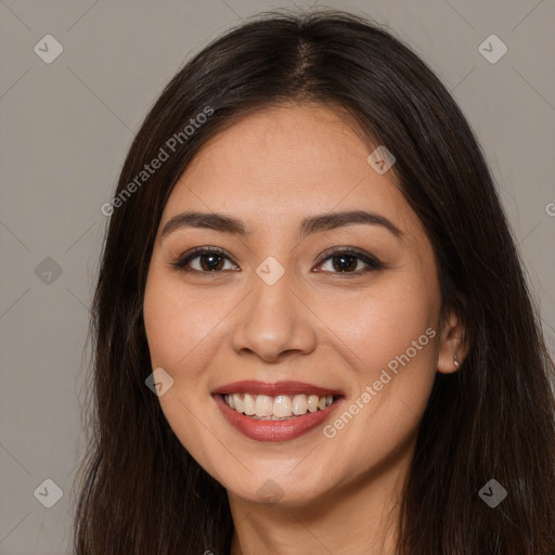
[[[165,206],[143,307],[159,402],[234,499],[337,499],[412,456],[437,267],[370,152],[339,112],[275,106],[205,144]]]

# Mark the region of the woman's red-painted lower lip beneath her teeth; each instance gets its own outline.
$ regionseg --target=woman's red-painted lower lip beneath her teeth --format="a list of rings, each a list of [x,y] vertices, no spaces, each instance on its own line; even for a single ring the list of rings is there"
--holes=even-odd
[[[322,424],[343,401],[339,398],[323,411],[307,412],[289,421],[257,421],[228,406],[221,395],[215,395],[214,398],[228,422],[257,441],[287,441],[298,438]]]

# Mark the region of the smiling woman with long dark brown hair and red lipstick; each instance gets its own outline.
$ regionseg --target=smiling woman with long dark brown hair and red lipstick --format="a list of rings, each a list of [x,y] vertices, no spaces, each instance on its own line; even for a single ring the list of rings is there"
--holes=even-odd
[[[555,553],[537,309],[468,124],[389,33],[228,33],[103,211],[78,555]]]

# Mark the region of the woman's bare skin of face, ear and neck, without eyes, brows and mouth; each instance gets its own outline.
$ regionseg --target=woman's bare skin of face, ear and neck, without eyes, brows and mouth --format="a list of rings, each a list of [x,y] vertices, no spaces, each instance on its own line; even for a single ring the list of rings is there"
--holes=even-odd
[[[462,362],[467,352],[455,313],[440,327],[424,228],[392,172],[366,162],[370,152],[340,112],[276,105],[206,143],[166,204],[143,307],[152,367],[173,378],[159,397],[170,426],[228,491],[232,555],[392,554],[400,491],[436,372],[457,371],[454,354]],[[183,228],[162,237],[173,216],[192,209],[236,217],[253,233]],[[305,217],[348,209],[385,216],[405,237],[358,223],[299,241]],[[171,267],[198,246],[225,250],[219,273],[206,257],[189,263],[198,273]],[[340,260],[322,257],[345,246],[386,268],[362,272],[367,264],[354,258],[341,272]],[[273,285],[256,273],[269,256],[285,270]],[[284,442],[250,439],[210,395],[240,379],[293,379],[343,390],[347,410],[427,328],[435,337],[333,438],[319,426]],[[259,494],[269,479],[281,495],[274,503]]]

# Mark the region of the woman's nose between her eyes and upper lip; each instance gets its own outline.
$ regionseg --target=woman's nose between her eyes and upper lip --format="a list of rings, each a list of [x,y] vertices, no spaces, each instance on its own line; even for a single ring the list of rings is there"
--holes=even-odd
[[[250,294],[234,314],[235,352],[275,362],[314,350],[318,318],[293,285],[287,272],[273,285],[255,276]]]

